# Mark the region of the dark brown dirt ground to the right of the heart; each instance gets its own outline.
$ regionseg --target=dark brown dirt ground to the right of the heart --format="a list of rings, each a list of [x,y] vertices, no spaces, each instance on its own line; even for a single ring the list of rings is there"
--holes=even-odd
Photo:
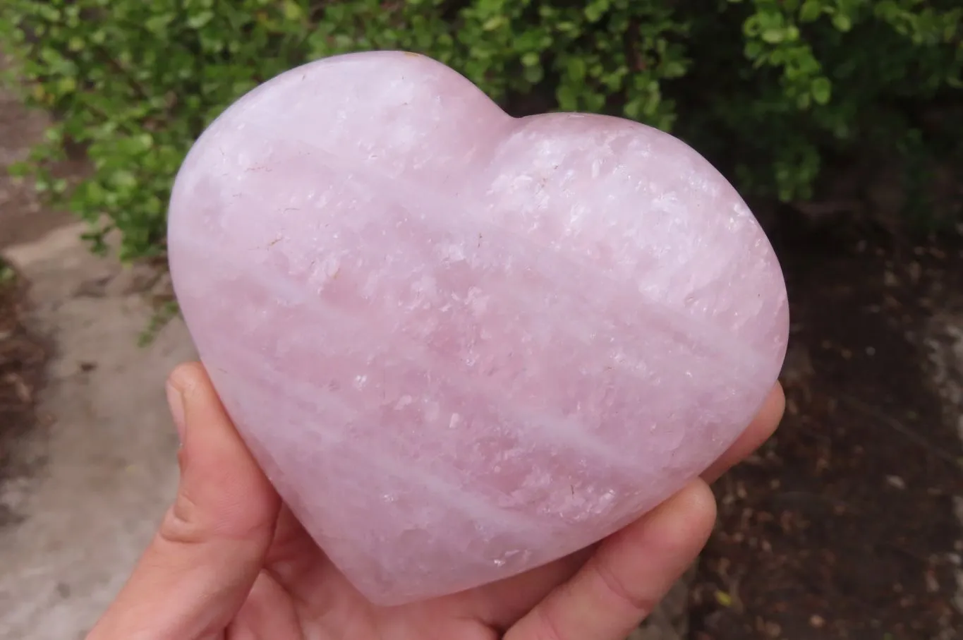
[[[692,640],[963,637],[963,243],[777,245],[788,411],[716,487]]]

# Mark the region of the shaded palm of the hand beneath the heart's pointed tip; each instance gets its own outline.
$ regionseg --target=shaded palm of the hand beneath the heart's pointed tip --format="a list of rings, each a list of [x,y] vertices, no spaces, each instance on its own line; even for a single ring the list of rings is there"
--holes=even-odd
[[[588,553],[455,596],[377,607],[335,569],[283,507],[265,567],[226,637],[494,640],[575,573]]]

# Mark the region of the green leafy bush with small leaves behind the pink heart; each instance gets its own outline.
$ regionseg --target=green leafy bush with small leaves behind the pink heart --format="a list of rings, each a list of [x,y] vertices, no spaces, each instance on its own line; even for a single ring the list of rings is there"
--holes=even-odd
[[[0,42],[59,117],[19,170],[93,240],[117,228],[124,257],[163,253],[173,175],[225,106],[348,51],[419,51],[507,105],[672,130],[785,201],[834,163],[920,170],[963,145],[958,0],[4,0]],[[46,167],[75,144],[93,173],[70,188]]]

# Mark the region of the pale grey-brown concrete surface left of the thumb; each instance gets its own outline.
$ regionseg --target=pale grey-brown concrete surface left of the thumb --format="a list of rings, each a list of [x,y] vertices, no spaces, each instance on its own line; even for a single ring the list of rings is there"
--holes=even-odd
[[[56,353],[44,427],[18,455],[36,473],[0,487],[0,640],[74,640],[113,598],[176,487],[164,380],[194,358],[179,322],[148,348],[141,274],[92,256],[60,227],[3,252],[31,282]]]

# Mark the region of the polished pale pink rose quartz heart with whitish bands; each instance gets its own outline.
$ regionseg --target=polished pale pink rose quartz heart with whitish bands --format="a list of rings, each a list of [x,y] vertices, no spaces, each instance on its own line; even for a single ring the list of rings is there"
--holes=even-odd
[[[532,569],[710,465],[785,353],[732,186],[628,120],[516,120],[429,58],[288,71],[197,141],[177,298],[223,403],[377,603]]]

